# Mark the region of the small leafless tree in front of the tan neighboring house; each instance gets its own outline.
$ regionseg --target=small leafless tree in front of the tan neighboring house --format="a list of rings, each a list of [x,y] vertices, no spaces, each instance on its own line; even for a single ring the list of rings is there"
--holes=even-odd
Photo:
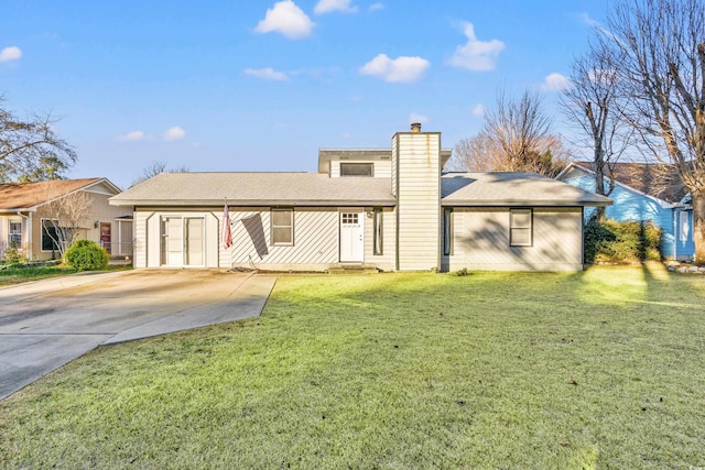
[[[80,236],[80,230],[87,229],[87,218],[93,199],[86,192],[75,192],[68,195],[59,195],[52,185],[47,186],[48,204],[37,210],[42,218],[42,231],[53,241],[62,260],[66,250]]]

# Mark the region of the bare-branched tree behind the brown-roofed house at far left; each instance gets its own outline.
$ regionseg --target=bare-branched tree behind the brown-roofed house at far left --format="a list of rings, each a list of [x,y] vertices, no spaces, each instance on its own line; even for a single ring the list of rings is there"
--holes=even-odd
[[[76,152],[54,132],[51,114],[20,119],[4,109],[0,96],[0,179],[41,181],[63,177]]]

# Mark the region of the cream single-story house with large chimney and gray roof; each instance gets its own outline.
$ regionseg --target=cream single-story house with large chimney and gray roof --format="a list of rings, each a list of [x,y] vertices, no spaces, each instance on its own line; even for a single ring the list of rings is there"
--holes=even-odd
[[[134,211],[135,267],[583,269],[583,210],[611,200],[531,173],[442,174],[440,132],[324,149],[317,173],[163,173]],[[232,244],[223,242],[228,204]]]

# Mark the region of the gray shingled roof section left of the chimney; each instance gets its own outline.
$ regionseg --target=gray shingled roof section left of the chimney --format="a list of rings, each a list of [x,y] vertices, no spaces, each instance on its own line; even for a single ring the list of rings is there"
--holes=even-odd
[[[116,206],[393,206],[390,178],[319,173],[162,173],[112,197]]]

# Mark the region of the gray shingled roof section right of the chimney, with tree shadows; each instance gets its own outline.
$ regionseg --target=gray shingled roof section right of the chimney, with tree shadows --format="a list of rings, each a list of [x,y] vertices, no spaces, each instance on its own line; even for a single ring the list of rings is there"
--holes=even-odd
[[[611,199],[535,173],[446,173],[444,206],[609,206]]]

